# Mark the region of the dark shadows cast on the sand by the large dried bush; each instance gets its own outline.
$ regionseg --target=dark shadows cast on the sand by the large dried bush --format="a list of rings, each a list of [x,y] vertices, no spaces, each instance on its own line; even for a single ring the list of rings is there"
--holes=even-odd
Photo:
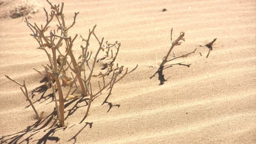
[[[35,96],[35,95],[33,95],[34,93],[37,93],[37,95],[42,93],[40,98],[38,98],[33,103],[37,103],[37,102],[42,103],[48,99],[51,99],[51,101],[53,101],[53,99],[54,99],[53,93],[48,94],[47,96],[44,96],[44,94],[47,90],[48,90],[48,88],[46,87],[46,85],[41,85],[41,86],[35,88],[33,91],[31,91],[30,93],[31,93],[32,97]],[[75,91],[76,91],[76,89],[75,89]],[[75,91],[73,91],[73,93]],[[41,101],[42,99],[43,99],[43,101]],[[80,99],[75,99],[75,100],[68,101],[67,103],[65,103],[65,105],[64,105],[65,106],[65,115],[66,115],[65,120],[67,119],[67,117],[71,116],[77,109],[79,109],[81,107],[88,106],[88,101],[89,101],[88,98],[82,97]],[[27,107],[29,107],[29,106],[27,106]],[[25,109],[27,107],[25,107]],[[60,131],[60,130],[64,131],[68,127],[71,128],[74,125],[59,128],[58,126],[56,126],[56,124],[54,122],[54,119],[53,119],[54,115],[57,115],[56,108],[54,108],[53,112],[51,112],[49,115],[43,116],[43,120],[36,121],[34,124],[27,126],[27,128],[24,128],[23,130],[21,130],[17,133],[1,136],[0,144],[4,144],[4,143],[8,143],[8,144],[21,144],[21,143],[45,144],[46,142],[58,143],[58,141],[60,139],[58,136],[55,136],[55,132]],[[83,128],[78,133],[76,133],[74,136],[72,136],[69,141],[74,139],[76,142],[76,136],[81,131],[83,131],[83,129],[86,127],[86,125],[89,125],[89,128],[92,128],[92,124],[93,123],[86,122],[85,125],[83,126]],[[43,133],[43,132],[44,133],[46,132],[43,136],[42,136],[42,134],[39,135],[39,133]],[[37,134],[37,136],[36,136],[37,138],[40,136],[42,136],[42,137],[40,139],[36,139],[36,140],[33,139],[33,137],[36,134]]]

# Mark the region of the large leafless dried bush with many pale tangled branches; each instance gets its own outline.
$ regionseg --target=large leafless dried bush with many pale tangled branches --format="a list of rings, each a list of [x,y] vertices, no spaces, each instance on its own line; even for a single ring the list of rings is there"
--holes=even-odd
[[[63,14],[64,3],[61,3],[61,5],[53,5],[48,0],[47,2],[51,6],[51,13],[48,14],[48,12],[44,8],[46,24],[40,25],[40,27],[36,23],[31,24],[27,18],[26,23],[33,33],[30,35],[34,37],[34,39],[39,44],[39,47],[37,49],[43,50],[48,57],[49,64],[46,64],[46,66],[43,65],[43,67],[45,68],[45,73],[40,72],[35,68],[34,69],[41,75],[47,77],[48,83],[45,83],[45,85],[47,85],[48,88],[51,87],[53,90],[54,102],[57,111],[57,116],[55,116],[55,120],[59,123],[59,126],[62,127],[65,125],[65,102],[84,96],[90,96],[88,107],[85,112],[85,117],[87,117],[93,98],[99,96],[101,92],[105,89],[109,90],[109,94],[107,96],[108,98],[111,94],[114,84],[120,81],[123,77],[125,77],[125,75],[133,72],[133,70],[135,70],[138,65],[130,72],[128,72],[128,68],[124,69],[124,66],[114,64],[121,44],[117,41],[112,44],[108,43],[108,41],[104,42],[104,37],[99,39],[95,34],[96,25],[93,27],[92,30],[89,29],[89,35],[87,39],[84,39],[82,36],[80,36],[85,42],[85,46],[81,45],[82,53],[78,57],[78,59],[76,59],[72,49],[74,47],[73,44],[77,38],[77,35],[71,37],[68,35],[68,31],[75,25],[76,18],[79,12],[75,13],[72,24],[68,26],[65,22]],[[57,24],[54,23],[53,19],[56,19]],[[56,25],[57,27],[56,29],[54,29],[54,26]],[[49,27],[51,27],[52,30],[48,30]],[[95,37],[95,39],[99,43],[99,47],[97,48],[96,54],[93,56],[92,60],[92,52],[89,51],[89,41],[91,37]],[[117,51],[115,55],[113,55],[113,48],[115,48]],[[64,53],[61,53],[61,49],[65,50]],[[110,49],[112,53],[111,57],[109,56]],[[106,56],[101,59],[97,59],[100,51],[106,51]],[[70,61],[68,61],[68,56],[70,57]],[[106,58],[109,58],[109,61],[104,63],[104,67],[102,69],[107,69],[107,71],[103,72],[102,69],[96,69],[96,63]],[[67,71],[71,71],[71,74],[73,72],[75,74],[75,77],[73,75],[72,78],[68,77]],[[95,71],[98,72],[98,74],[95,74]],[[12,80],[8,76],[6,77]],[[109,78],[109,80],[107,79],[107,77]],[[78,81],[80,85],[81,93],[69,95],[71,89],[73,88],[73,85],[75,84],[77,87],[76,81]],[[17,83],[16,81],[14,82]],[[92,87],[93,84],[94,88]],[[99,88],[95,88],[96,84],[98,84],[97,86],[99,86]],[[20,86],[26,88],[25,85],[20,84]],[[64,87],[68,87],[65,88],[67,89],[67,92],[64,91]],[[55,93],[55,89],[57,89],[58,93]]]

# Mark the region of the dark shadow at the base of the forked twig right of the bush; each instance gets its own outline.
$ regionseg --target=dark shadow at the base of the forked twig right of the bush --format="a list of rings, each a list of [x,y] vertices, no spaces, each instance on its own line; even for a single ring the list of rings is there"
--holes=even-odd
[[[155,74],[150,77],[150,79],[152,79],[153,77],[155,77],[156,74],[158,74],[158,80],[160,81],[159,85],[163,85],[169,79],[169,78],[165,79],[165,75],[163,75],[163,69],[168,69],[169,67],[173,67],[173,65],[180,65],[180,66],[186,66],[186,67],[190,67],[191,65],[191,64],[182,64],[182,63],[183,62],[178,64],[160,66],[158,70],[155,72]]]

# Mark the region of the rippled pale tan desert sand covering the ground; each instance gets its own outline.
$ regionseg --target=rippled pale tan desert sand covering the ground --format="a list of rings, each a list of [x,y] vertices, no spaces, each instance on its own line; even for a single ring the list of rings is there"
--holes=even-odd
[[[0,14],[21,3],[5,0]],[[108,102],[104,91],[83,120],[88,98],[66,103],[66,127],[52,120],[51,89],[37,92],[32,101],[39,112],[38,123],[19,86],[9,75],[25,80],[29,91],[42,85],[41,64],[48,64],[42,50],[29,35],[22,18],[0,19],[0,143],[256,143],[256,2],[255,0],[51,0],[64,2],[67,23],[80,12],[70,35],[88,36],[97,24],[99,37],[121,48],[117,62],[138,68],[112,90]],[[39,11],[29,19],[45,23]],[[163,8],[167,11],[162,12]],[[197,48],[195,54],[168,64],[159,85],[157,71],[168,52],[170,30],[173,38],[185,32],[185,42],[176,46],[176,55]],[[208,58],[200,47],[217,38]],[[74,53],[79,56],[81,39]],[[202,56],[200,56],[202,53]],[[173,56],[171,54],[171,56]],[[150,79],[152,77],[152,79]]]

